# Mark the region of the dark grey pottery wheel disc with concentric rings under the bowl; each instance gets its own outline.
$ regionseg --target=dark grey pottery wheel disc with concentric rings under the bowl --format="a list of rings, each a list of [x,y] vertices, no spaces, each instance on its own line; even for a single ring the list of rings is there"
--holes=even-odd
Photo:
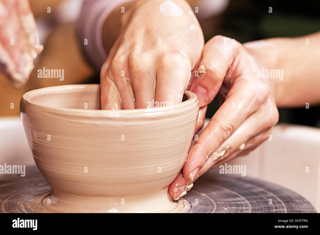
[[[50,212],[42,202],[50,195],[51,187],[35,166],[27,167],[26,171],[24,177],[2,175],[0,212]],[[190,204],[188,213],[316,212],[310,202],[291,190],[248,176],[220,175],[215,170],[201,176],[183,200]]]

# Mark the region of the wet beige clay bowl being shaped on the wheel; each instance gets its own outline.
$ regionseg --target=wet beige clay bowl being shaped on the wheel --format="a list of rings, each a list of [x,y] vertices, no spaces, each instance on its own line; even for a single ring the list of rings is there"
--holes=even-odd
[[[194,136],[196,95],[186,91],[184,101],[169,110],[100,108],[98,84],[22,96],[28,144],[52,188],[42,206],[52,212],[179,211],[181,203],[167,191]]]

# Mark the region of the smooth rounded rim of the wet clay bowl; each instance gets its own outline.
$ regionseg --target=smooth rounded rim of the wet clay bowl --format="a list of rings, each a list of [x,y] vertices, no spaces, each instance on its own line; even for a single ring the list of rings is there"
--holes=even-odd
[[[58,85],[58,86],[49,86],[44,88],[39,88],[35,90],[30,90],[22,95],[20,100],[20,113],[26,113],[21,110],[21,107],[37,107],[41,108],[42,111],[56,113],[56,114],[65,114],[69,116],[78,116],[78,117],[103,117],[103,118],[127,118],[131,119],[134,117],[138,118],[156,118],[159,116],[171,116],[177,113],[184,113],[192,111],[196,108],[199,108],[199,102],[196,94],[191,91],[185,91],[184,97],[188,99],[172,105],[171,109],[166,109],[165,107],[155,107],[155,108],[141,108],[141,109],[117,109],[117,110],[101,110],[101,109],[79,109],[79,108],[57,108],[50,107],[38,104],[32,99],[39,95],[43,94],[61,94],[62,89],[92,89],[95,91],[100,84],[69,84],[69,85]],[[57,93],[56,93],[56,92]]]

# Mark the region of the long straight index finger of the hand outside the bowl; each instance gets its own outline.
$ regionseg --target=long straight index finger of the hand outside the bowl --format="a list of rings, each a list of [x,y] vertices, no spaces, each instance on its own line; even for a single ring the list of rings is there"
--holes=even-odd
[[[188,158],[183,167],[183,176],[190,179],[196,175],[208,157],[213,153],[223,154],[228,150],[218,151],[218,147],[225,142],[252,113],[268,98],[268,88],[259,87],[259,98],[252,88],[252,82],[247,79],[236,80],[226,98],[226,101],[213,115],[204,131],[189,151]],[[251,89],[247,89],[251,88]],[[252,127],[251,127],[252,128]]]

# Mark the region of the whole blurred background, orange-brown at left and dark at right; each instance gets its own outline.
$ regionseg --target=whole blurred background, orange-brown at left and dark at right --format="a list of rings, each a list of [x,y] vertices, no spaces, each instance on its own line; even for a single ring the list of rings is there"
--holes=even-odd
[[[25,87],[12,88],[0,74],[0,116],[20,115],[21,96],[33,89],[46,86],[99,83],[96,71],[85,59],[78,45],[75,21],[80,14],[81,0],[30,0],[34,13],[40,43],[44,51],[35,61],[35,68]],[[320,30],[320,1],[293,4],[286,1],[253,0],[189,0],[190,5],[199,8],[198,20],[204,31],[205,41],[214,35],[224,35],[241,43],[270,37],[295,37]],[[47,7],[51,13],[47,13]],[[210,6],[210,7],[209,7]],[[272,7],[272,13],[269,13]],[[210,9],[212,8],[212,9]],[[201,11],[211,13],[204,14]],[[294,50],[294,48],[292,48]],[[303,63],[303,61],[301,61]],[[64,80],[38,78],[37,70],[64,69]],[[301,78],[303,79],[303,77]],[[10,104],[14,108],[10,108]],[[218,109],[215,98],[209,105],[206,116],[211,118]],[[280,122],[320,127],[320,106],[309,109],[279,109]]]

